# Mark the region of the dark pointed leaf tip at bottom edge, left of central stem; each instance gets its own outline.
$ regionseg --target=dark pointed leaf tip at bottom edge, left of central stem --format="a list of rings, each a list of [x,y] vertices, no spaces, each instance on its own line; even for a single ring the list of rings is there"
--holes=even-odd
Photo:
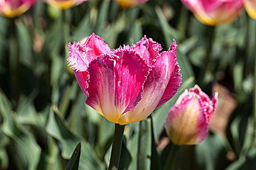
[[[81,154],[81,142],[78,143],[70,160],[68,161],[66,170],[78,170],[80,154]]]

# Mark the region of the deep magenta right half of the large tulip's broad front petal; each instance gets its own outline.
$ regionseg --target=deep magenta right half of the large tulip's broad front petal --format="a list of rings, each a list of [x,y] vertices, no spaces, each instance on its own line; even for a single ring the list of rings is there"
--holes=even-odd
[[[122,105],[128,104],[122,112],[125,113],[134,108],[141,100],[143,85],[151,67],[138,54],[135,54],[135,51],[119,51],[117,55],[120,57],[120,61],[115,67],[116,104],[117,108],[122,108]]]

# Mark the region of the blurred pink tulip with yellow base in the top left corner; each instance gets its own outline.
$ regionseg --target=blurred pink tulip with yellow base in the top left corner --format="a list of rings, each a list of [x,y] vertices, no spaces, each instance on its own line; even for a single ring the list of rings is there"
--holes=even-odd
[[[18,17],[37,0],[0,0],[0,13],[5,17]]]

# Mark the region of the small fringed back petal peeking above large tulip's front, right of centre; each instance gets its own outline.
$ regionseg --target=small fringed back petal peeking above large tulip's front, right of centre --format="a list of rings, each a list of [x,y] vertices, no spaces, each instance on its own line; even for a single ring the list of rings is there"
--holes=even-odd
[[[162,48],[161,45],[153,41],[152,38],[148,39],[144,36],[137,45],[134,46],[134,49],[139,51],[141,57],[153,66],[156,58],[159,56],[159,51],[161,51]]]

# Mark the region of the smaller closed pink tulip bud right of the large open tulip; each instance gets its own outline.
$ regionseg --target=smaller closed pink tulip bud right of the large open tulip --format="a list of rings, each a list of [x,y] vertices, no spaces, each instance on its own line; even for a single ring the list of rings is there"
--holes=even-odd
[[[185,90],[177,99],[165,121],[165,130],[176,145],[195,145],[208,134],[217,103],[218,93],[213,101],[195,85]]]

